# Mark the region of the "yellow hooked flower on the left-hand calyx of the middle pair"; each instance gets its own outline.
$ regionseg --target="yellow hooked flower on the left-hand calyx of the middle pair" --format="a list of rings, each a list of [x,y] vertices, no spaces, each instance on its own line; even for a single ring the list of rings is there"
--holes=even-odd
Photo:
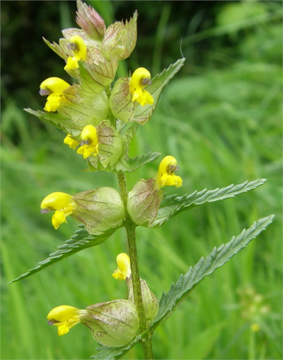
[[[67,223],[66,218],[73,213],[77,205],[68,193],[50,193],[41,203],[41,213],[49,213],[55,210],[52,216],[52,225],[57,230],[62,223]]]

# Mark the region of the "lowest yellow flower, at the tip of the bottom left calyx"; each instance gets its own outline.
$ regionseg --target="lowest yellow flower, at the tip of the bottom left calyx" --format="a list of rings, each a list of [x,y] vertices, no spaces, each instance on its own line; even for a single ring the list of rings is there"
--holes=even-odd
[[[79,324],[81,317],[87,314],[87,310],[80,310],[73,306],[57,306],[47,315],[48,325],[56,325],[58,327],[58,335],[64,335],[69,332],[71,327]]]

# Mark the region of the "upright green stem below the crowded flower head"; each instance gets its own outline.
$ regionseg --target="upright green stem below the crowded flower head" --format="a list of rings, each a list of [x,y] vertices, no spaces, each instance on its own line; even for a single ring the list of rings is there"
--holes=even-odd
[[[131,271],[132,271],[132,285],[134,293],[134,305],[136,305],[137,313],[139,315],[139,330],[140,333],[143,333],[147,330],[146,318],[144,316],[144,305],[142,303],[141,296],[141,282],[139,278],[139,264],[137,259],[137,244],[136,244],[136,225],[133,223],[132,219],[127,212],[127,185],[124,174],[117,174],[119,187],[122,195],[122,201],[125,205],[126,215],[125,215],[125,227],[127,232],[127,240],[129,245],[129,259],[131,260]],[[142,339],[142,347],[144,350],[144,359],[154,359],[154,354],[152,351],[151,344],[151,334],[146,333]]]

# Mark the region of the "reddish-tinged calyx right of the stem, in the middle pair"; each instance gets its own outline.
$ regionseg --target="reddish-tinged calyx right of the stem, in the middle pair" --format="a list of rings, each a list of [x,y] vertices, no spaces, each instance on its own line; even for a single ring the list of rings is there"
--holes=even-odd
[[[163,190],[155,189],[154,179],[140,179],[129,191],[127,211],[134,223],[148,226],[154,222],[163,198]]]

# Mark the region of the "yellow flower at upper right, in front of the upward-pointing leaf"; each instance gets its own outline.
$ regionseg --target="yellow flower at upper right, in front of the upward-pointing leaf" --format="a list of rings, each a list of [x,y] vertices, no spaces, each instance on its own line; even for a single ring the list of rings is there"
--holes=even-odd
[[[141,106],[147,103],[154,103],[154,98],[149,94],[149,91],[144,90],[145,85],[151,84],[151,74],[144,67],[139,67],[132,74],[129,80],[129,92],[132,94],[132,101],[137,101]]]

